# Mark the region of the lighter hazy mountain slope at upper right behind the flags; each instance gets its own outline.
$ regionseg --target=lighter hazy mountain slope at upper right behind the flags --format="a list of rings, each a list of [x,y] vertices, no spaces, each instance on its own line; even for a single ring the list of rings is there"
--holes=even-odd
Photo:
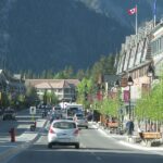
[[[113,17],[121,24],[134,27],[135,20],[133,16],[127,16],[127,10],[137,5],[138,9],[138,23],[150,21],[153,17],[153,8],[155,0],[76,0],[83,2],[87,8],[97,13],[104,14]],[[161,18],[163,10],[163,1],[156,0],[156,16]]]

